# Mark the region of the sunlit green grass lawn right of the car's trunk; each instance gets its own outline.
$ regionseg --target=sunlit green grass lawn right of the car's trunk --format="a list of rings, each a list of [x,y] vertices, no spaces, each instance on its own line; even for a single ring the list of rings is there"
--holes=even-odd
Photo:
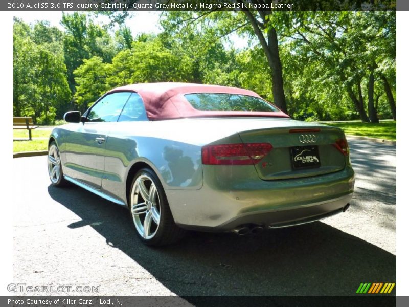
[[[363,136],[384,140],[396,141],[396,121],[381,121],[378,124],[362,123],[356,121],[322,123],[324,125],[344,129],[345,134]]]

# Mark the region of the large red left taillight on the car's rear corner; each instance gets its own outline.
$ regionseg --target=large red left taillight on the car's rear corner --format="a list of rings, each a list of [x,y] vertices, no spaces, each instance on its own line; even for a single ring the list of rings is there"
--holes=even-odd
[[[201,162],[211,165],[256,164],[271,149],[269,143],[207,145],[201,149]]]

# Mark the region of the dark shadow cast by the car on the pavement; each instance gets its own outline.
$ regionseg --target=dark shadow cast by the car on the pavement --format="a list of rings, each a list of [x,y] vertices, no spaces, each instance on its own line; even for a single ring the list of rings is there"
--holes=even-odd
[[[126,209],[78,187],[48,192],[82,219],[69,228],[93,227],[178,296],[354,295],[361,282],[396,281],[395,255],[324,223],[256,236],[189,232],[152,248]]]

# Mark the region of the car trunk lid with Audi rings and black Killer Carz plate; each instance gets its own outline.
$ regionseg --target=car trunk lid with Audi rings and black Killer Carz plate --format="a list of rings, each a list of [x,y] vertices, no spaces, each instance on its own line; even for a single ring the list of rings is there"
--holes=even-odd
[[[288,122],[289,123],[289,122]],[[270,143],[273,149],[257,164],[263,180],[316,176],[344,169],[348,156],[336,147],[343,130],[324,125],[284,125],[238,132],[243,143]]]

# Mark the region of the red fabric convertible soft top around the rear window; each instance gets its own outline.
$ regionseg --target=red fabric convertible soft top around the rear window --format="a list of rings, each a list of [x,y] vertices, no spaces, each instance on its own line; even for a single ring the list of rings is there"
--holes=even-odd
[[[188,117],[285,117],[279,112],[249,112],[249,111],[201,111],[195,109],[184,97],[185,94],[195,93],[225,93],[241,94],[259,97],[256,93],[238,89],[237,87],[206,85],[194,83],[137,83],[117,87],[109,91],[132,91],[141,95],[146,114],[150,120],[176,119]]]

